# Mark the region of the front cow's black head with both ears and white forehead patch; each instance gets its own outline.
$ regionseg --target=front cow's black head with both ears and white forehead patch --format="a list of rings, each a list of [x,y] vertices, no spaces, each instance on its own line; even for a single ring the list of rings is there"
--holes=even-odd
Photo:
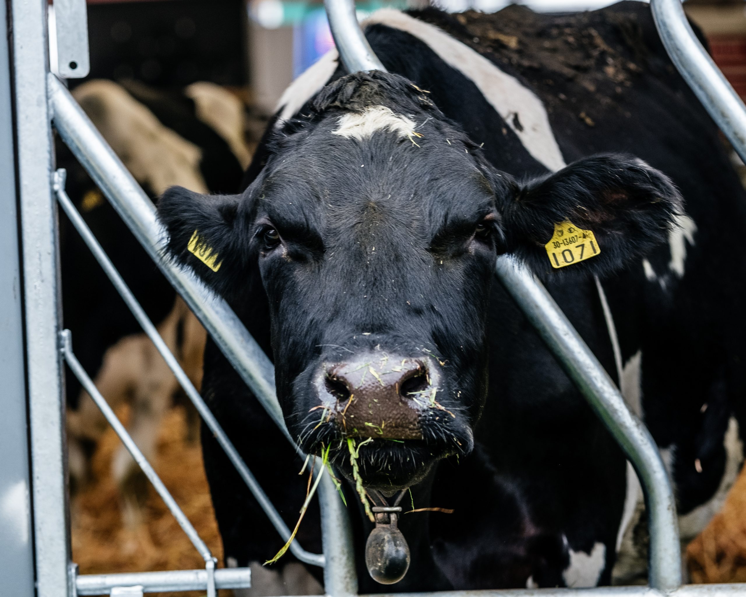
[[[159,215],[175,257],[233,301],[260,275],[278,398],[304,450],[330,446],[351,476],[365,442],[363,482],[408,487],[473,446],[498,254],[546,272],[544,245],[570,220],[601,245],[574,267],[609,269],[665,237],[679,197],[624,157],[518,184],[396,75],[343,78],[310,112],[278,131],[241,196],[169,190]]]

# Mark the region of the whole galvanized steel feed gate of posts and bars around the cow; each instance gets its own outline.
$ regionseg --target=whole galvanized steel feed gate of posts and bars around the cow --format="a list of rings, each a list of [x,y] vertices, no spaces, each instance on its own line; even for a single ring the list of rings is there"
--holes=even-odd
[[[95,130],[81,107],[72,99],[60,78],[51,74],[49,35],[56,37],[57,48],[52,70],[63,78],[77,78],[87,74],[85,0],[55,0],[55,24],[50,26],[50,31],[47,0],[8,0],[8,4],[12,31],[11,64],[16,118],[16,175],[20,196],[19,231],[22,236],[22,290],[25,304],[31,503],[37,595],[142,596],[142,593],[163,590],[205,590],[208,596],[213,597],[219,588],[249,587],[249,569],[216,570],[216,562],[209,549],[78,363],[73,350],[75,338],[71,338],[69,332],[60,328],[57,202],[93,251],[98,263],[125,299],[145,333],[153,340],[184,387],[186,395],[216,435],[280,536],[285,540],[289,537],[289,529],[66,196],[64,172],[54,171],[52,125],[280,430],[295,446],[286,431],[275,396],[272,363],[222,298],[207,290],[191,272],[163,259],[166,234],[156,220],[153,204]],[[325,4],[336,46],[348,71],[383,69],[357,24],[354,1],[326,0]],[[651,4],[656,26],[672,60],[746,161],[746,107],[696,39],[686,21],[680,1],[651,0]],[[467,597],[471,594],[518,597],[582,593],[586,596],[636,597],[675,593],[681,597],[695,597],[740,592],[742,588],[739,585],[682,586],[674,496],[651,434],[627,409],[612,380],[538,279],[510,256],[499,257],[495,271],[637,472],[645,494],[650,528],[650,585],[583,590],[454,591],[438,594],[444,597]],[[78,575],[69,551],[63,362],[70,366],[89,391],[145,475],[166,501],[169,510],[204,558],[204,569]],[[323,467],[316,466],[316,471],[323,471]],[[327,595],[355,596],[357,576],[349,520],[327,475],[323,476],[319,484],[319,501],[324,554],[310,554],[297,542],[292,544],[291,549],[299,560],[324,567]]]

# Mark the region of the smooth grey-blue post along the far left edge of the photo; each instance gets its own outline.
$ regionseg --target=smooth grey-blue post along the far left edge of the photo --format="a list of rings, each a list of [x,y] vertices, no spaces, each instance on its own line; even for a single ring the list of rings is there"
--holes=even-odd
[[[0,12],[0,31],[7,31]],[[7,38],[0,43],[0,587],[16,597],[34,595],[28,421],[23,363],[21,255],[19,253],[13,113]]]

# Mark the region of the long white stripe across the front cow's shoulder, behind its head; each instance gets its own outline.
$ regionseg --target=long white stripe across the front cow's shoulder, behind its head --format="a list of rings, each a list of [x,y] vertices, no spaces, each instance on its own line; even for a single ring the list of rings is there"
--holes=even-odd
[[[481,54],[445,31],[398,10],[377,10],[361,25],[366,27],[376,23],[406,31],[426,43],[448,66],[457,69],[477,86],[537,161],[552,172],[565,167],[565,160],[554,138],[544,104],[518,79],[501,71]]]

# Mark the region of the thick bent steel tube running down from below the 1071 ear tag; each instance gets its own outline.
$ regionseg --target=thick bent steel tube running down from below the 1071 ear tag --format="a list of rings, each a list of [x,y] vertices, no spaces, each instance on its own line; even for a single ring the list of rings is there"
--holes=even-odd
[[[538,278],[512,255],[498,257],[495,271],[635,467],[648,511],[648,582],[663,593],[677,589],[682,575],[676,501],[650,431],[627,408],[604,367]]]

